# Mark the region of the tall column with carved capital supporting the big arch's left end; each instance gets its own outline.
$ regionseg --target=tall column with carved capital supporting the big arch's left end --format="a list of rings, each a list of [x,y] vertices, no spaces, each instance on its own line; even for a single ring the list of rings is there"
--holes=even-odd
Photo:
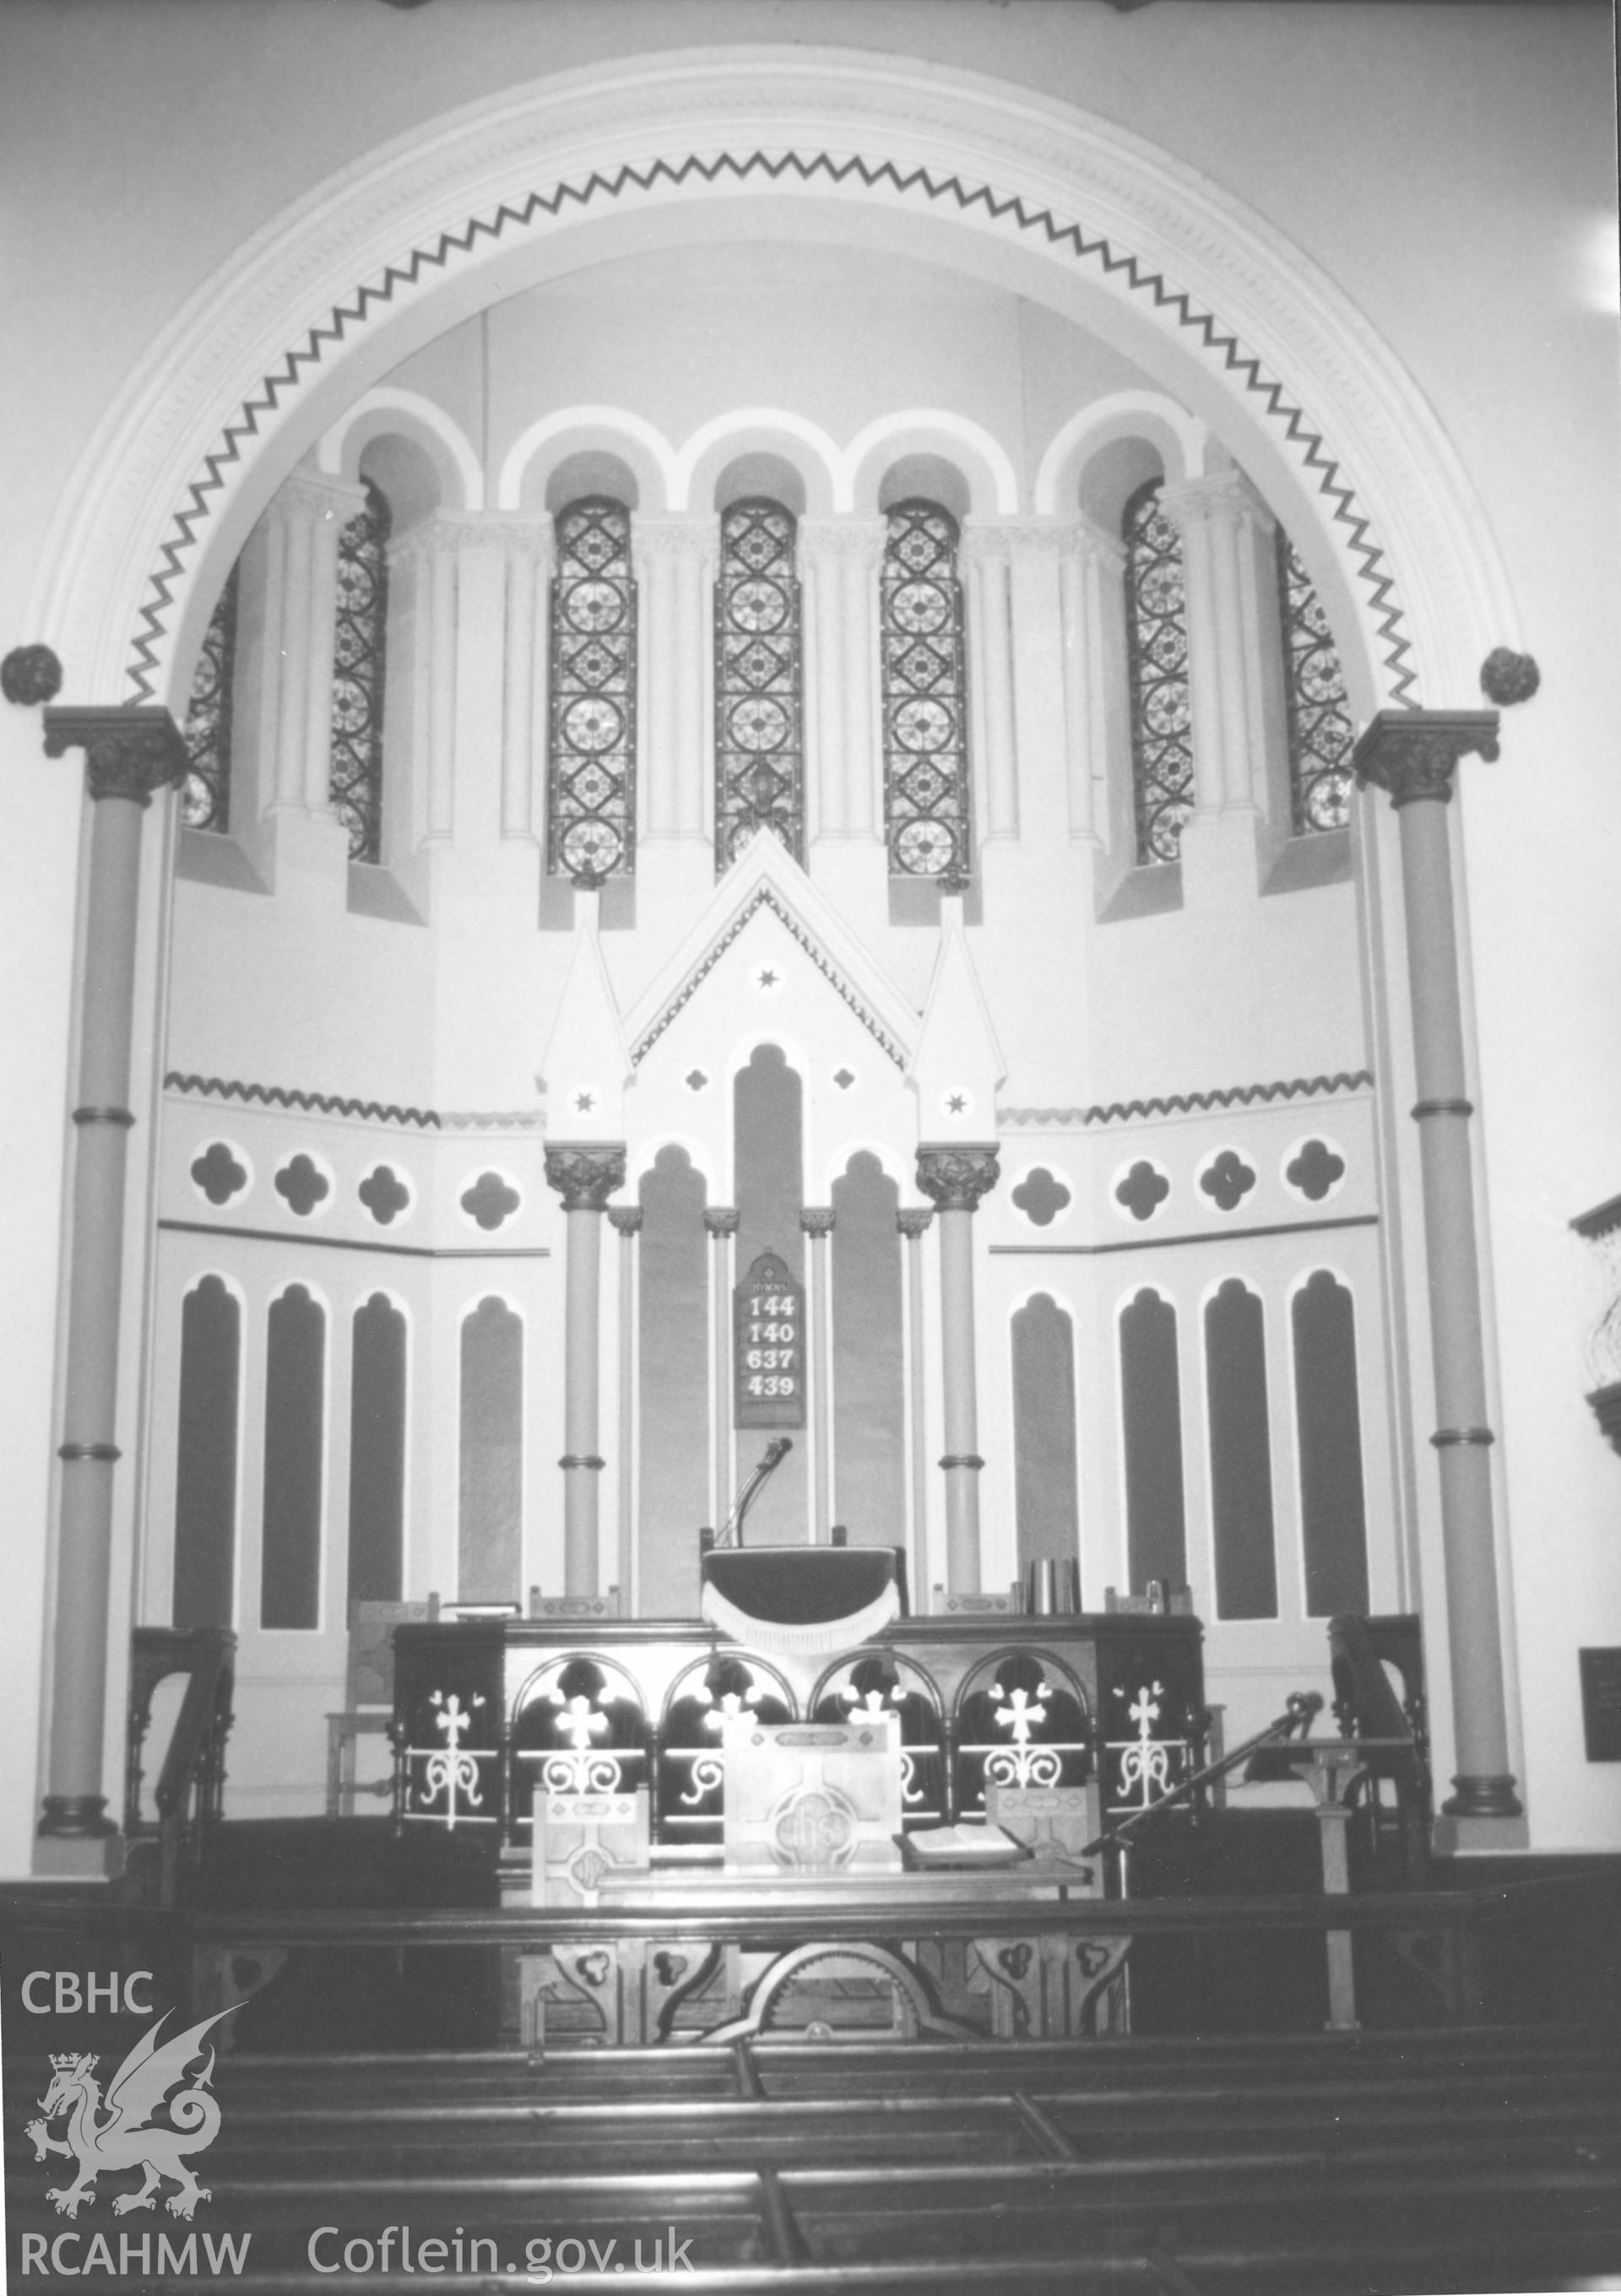
[[[85,886],[85,969],[78,1003],[73,1226],[62,1375],[62,1481],[55,1525],[55,1626],[46,1798],[34,1857],[41,1874],[110,1874],[117,1853],[101,1791],[113,1469],[117,1467],[117,1336],[124,1270],[140,815],[152,792],[186,778],[186,744],[168,709],[46,709],[46,755],[85,751],[94,806]]]

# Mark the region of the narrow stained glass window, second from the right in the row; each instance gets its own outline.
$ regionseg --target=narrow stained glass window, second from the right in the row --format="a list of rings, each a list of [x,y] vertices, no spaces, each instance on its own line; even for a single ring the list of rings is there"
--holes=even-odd
[[[1164,512],[1159,480],[1137,489],[1125,505],[1120,533],[1137,861],[1176,861],[1182,822],[1194,810],[1194,739],[1182,537]]]

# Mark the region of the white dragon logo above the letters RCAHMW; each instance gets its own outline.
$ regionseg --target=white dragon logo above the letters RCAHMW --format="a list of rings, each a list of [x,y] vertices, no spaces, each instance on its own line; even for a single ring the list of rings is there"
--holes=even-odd
[[[154,2126],[152,2115],[163,2105],[170,2089],[186,2078],[186,2066],[193,2057],[202,2055],[204,2032],[218,2025],[223,2016],[230,2016],[230,2009],[220,2009],[220,2016],[209,2016],[200,2025],[177,2032],[172,2041],[158,2048],[158,2034],[168,2025],[170,2014],[165,2009],[158,2023],[149,2032],[142,2032],[108,2082],[106,2119],[101,2119],[101,2082],[94,2078],[101,2060],[71,2053],[51,2060],[51,2087],[39,2099],[44,2119],[30,2122],[28,2135],[34,2144],[34,2161],[44,2161],[53,2151],[64,2154],[69,2161],[78,2158],[73,2183],[46,2188],[46,2200],[57,2204],[57,2216],[78,2216],[80,2202],[94,2202],[96,2177],[103,2167],[138,2167],[145,2170],[147,2179],[138,2193],[119,2193],[113,2202],[115,2216],[126,2216],[131,2209],[152,2209],[165,2177],[172,2177],[179,2186],[179,2193],[170,2193],[168,2197],[170,2216],[191,2216],[200,2200],[211,2197],[207,2186],[200,2186],[186,2167],[184,2156],[202,2151],[220,2133],[220,2108],[209,2094],[214,2050],[207,2053],[209,2062],[193,2076],[191,2087],[170,2101],[172,2126]],[[48,2124],[64,2112],[71,2115],[67,2140],[53,2138]]]

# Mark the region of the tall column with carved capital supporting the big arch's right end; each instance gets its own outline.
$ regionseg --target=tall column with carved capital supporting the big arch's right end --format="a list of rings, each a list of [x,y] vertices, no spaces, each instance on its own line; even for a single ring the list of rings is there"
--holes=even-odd
[[[1497,755],[1495,709],[1380,709],[1352,762],[1359,783],[1389,792],[1401,817],[1407,990],[1424,1173],[1424,1261],[1430,1293],[1447,1632],[1458,1750],[1456,1793],[1437,1828],[1449,1846],[1506,1844],[1522,1828],[1469,1821],[1522,1816],[1508,1770],[1497,1541],[1486,1424],[1486,1339],[1469,1162],[1458,934],[1447,806],[1460,758]],[[1467,1830],[1465,1830],[1467,1828]]]

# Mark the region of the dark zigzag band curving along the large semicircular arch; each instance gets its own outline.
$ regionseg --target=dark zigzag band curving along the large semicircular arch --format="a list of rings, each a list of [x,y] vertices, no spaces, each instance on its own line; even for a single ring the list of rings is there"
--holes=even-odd
[[[225,471],[241,459],[243,441],[255,439],[259,422],[273,416],[289,390],[298,390],[308,372],[319,367],[331,347],[347,340],[349,331],[365,326],[372,312],[409,287],[418,287],[432,271],[445,271],[457,255],[468,255],[480,239],[501,239],[507,232],[523,232],[540,218],[556,218],[567,207],[590,207],[595,200],[618,200],[627,191],[654,191],[657,186],[682,188],[691,181],[716,184],[730,177],[797,177],[801,184],[822,179],[827,184],[859,181],[868,191],[889,188],[905,195],[923,195],[930,202],[955,204],[960,214],[983,209],[994,223],[1015,223],[1022,232],[1038,232],[1049,246],[1068,246],[1077,262],[1095,264],[1104,278],[1123,278],[1132,294],[1148,296],[1155,310],[1173,315],[1176,324],[1199,338],[1201,349],[1238,377],[1251,393],[1267,420],[1281,425],[1290,445],[1304,450],[1304,468],[1316,478],[1318,491],[1329,505],[1332,521],[1343,528],[1345,549],[1355,560],[1355,579],[1362,583],[1368,613],[1378,629],[1385,666],[1391,677],[1391,700],[1412,707],[1417,673],[1405,636],[1403,611],[1396,602],[1396,581],[1385,567],[1385,551],[1368,540],[1368,519],[1357,507],[1352,487],[1341,478],[1339,461],[1327,452],[1323,434],[1311,427],[1304,409],[1295,406],[1277,377],[1261,370],[1261,360],[1244,351],[1238,335],[1221,328],[1215,312],[1196,310],[1187,292],[1171,287],[1157,271],[1150,271],[1137,255],[1120,255],[1107,239],[1088,236],[1079,223],[1058,223],[1045,207],[1026,207],[1019,197],[999,197],[987,184],[964,184],[960,177],[934,177],[928,168],[898,168],[893,161],[833,158],[829,152],[721,152],[707,158],[689,154],[682,161],[659,158],[650,165],[625,165],[613,174],[592,170],[583,184],[558,184],[553,191],[533,191],[521,207],[503,204],[494,216],[471,216],[459,232],[441,232],[434,246],[413,248],[404,264],[388,264],[381,280],[356,287],[349,303],[335,303],[328,317],[312,326],[305,342],[292,347],[259,388],[246,397],[232,422],[220,432],[220,443],[204,455],[204,475],[193,480],[188,503],[174,514],[174,535],[158,553],[147,604],[140,608],[131,641],[131,700],[154,700],[158,643],[181,579],[186,556],[197,546],[197,528],[214,514],[209,496],[225,487]]]

